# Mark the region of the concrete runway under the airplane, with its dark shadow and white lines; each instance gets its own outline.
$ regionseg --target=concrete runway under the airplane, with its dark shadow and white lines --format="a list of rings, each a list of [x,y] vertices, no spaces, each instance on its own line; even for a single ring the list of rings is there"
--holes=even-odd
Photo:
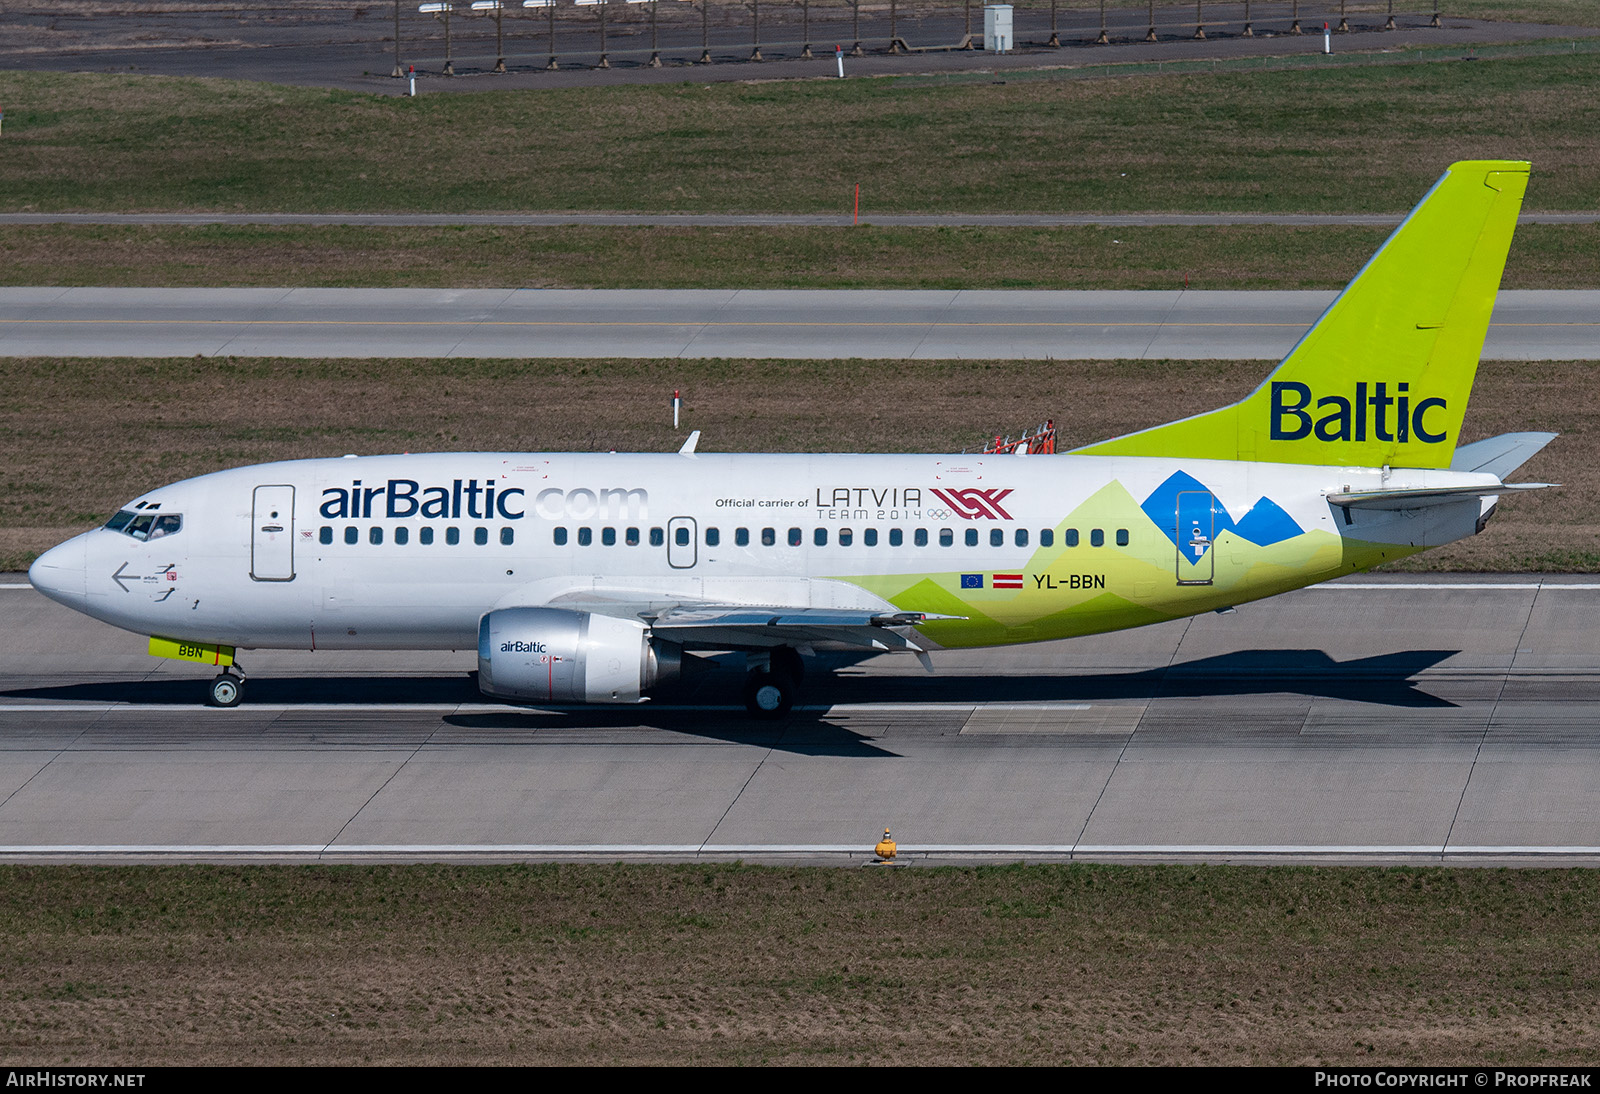
[[[1358,577],[1234,614],[626,709],[459,654],[206,672],[0,579],[0,857],[1600,862],[1600,582]]]

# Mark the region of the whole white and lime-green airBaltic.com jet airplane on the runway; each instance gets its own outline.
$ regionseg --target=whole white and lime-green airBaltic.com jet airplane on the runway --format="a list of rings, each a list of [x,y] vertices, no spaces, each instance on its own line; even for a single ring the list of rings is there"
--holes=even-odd
[[[46,552],[45,595],[221,667],[470,649],[520,704],[638,702],[744,651],[782,715],[819,651],[1094,635],[1483,529],[1554,433],[1458,446],[1528,165],[1456,163],[1242,401],[1067,454],[405,454],[202,475]],[[1064,366],[1067,368],[1067,366]]]

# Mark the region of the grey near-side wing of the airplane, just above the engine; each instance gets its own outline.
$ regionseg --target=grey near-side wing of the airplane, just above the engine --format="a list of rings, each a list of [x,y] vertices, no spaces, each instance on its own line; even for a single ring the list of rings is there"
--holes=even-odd
[[[920,651],[906,629],[930,619],[958,619],[922,611],[866,611],[851,608],[672,608],[650,622],[651,633],[701,649],[760,646],[846,646],[854,649]]]

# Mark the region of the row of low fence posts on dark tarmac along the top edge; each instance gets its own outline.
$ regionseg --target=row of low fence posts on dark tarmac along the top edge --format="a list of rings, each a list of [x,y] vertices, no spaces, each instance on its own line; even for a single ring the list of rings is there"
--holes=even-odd
[[[1013,3],[1008,53],[1438,27],[1440,0]],[[371,8],[368,8],[371,11]],[[371,18],[371,14],[368,16]],[[394,5],[394,75],[984,50],[982,0],[451,0]]]

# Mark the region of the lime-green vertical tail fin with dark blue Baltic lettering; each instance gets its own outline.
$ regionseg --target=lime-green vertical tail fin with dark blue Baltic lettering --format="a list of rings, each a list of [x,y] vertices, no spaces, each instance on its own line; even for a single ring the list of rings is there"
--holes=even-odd
[[[1454,163],[1242,401],[1075,449],[1450,467],[1528,165]]]

